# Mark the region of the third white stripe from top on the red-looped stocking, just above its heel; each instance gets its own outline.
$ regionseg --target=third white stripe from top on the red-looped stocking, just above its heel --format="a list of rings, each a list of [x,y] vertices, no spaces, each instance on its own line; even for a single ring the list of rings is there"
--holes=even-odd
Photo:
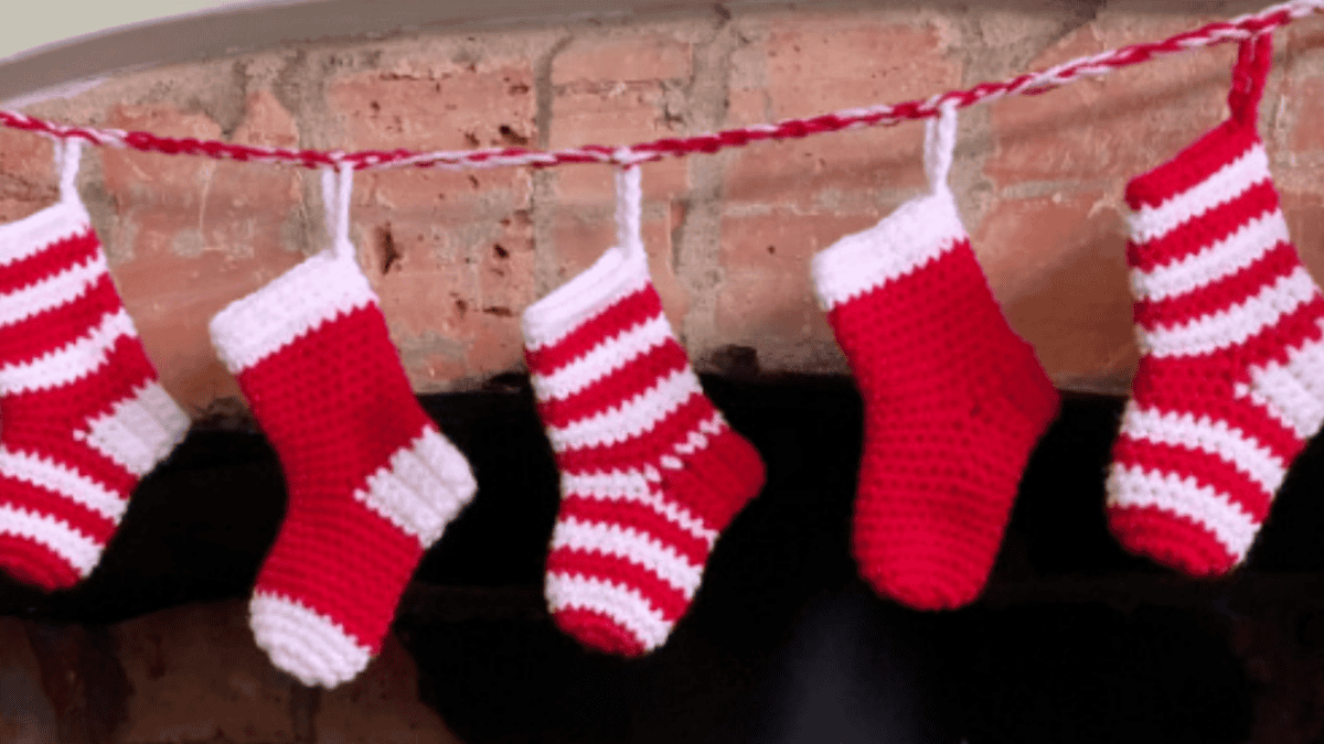
[[[1196,318],[1185,326],[1158,327],[1145,331],[1137,326],[1136,340],[1143,352],[1162,356],[1196,356],[1239,344],[1279,318],[1308,302],[1315,294],[1315,281],[1303,266],[1280,277],[1241,304]]]

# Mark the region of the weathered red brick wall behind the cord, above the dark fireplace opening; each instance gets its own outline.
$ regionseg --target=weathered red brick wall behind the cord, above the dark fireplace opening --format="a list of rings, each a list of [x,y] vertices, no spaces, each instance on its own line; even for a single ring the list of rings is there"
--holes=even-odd
[[[1246,9],[1246,8],[1238,8]],[[1231,11],[1229,11],[1231,12]],[[29,113],[318,148],[626,143],[923,97],[1222,17],[1121,3],[728,11],[612,25],[400,37],[114,75]],[[1324,20],[1278,32],[1262,132],[1294,237],[1324,277]],[[1233,48],[964,113],[952,183],[1012,324],[1059,387],[1124,392],[1136,361],[1127,179],[1225,115]],[[696,367],[845,371],[809,257],[923,185],[922,127],[821,135],[643,167],[654,279]],[[0,131],[0,218],[54,199],[49,144]],[[120,151],[81,189],[166,387],[237,395],[207,320],[323,241],[316,175]],[[519,316],[613,236],[612,173],[363,173],[352,234],[418,392],[522,368]],[[743,359],[748,359],[745,355]]]

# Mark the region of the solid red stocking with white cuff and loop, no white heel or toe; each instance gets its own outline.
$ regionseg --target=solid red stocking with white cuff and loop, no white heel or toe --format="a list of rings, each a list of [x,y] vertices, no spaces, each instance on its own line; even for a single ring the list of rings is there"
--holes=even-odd
[[[865,405],[853,548],[880,594],[956,608],[988,580],[1058,395],[1006,324],[947,187],[956,119],[927,123],[933,192],[813,258]]]

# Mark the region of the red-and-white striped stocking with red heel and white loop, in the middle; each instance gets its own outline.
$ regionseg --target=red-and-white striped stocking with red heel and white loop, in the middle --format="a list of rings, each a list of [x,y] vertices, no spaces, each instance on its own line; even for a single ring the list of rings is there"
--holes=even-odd
[[[764,469],[662,315],[638,238],[638,168],[620,179],[620,245],[532,304],[523,326],[561,471],[548,606],[580,642],[638,655],[690,606],[718,534]]]

